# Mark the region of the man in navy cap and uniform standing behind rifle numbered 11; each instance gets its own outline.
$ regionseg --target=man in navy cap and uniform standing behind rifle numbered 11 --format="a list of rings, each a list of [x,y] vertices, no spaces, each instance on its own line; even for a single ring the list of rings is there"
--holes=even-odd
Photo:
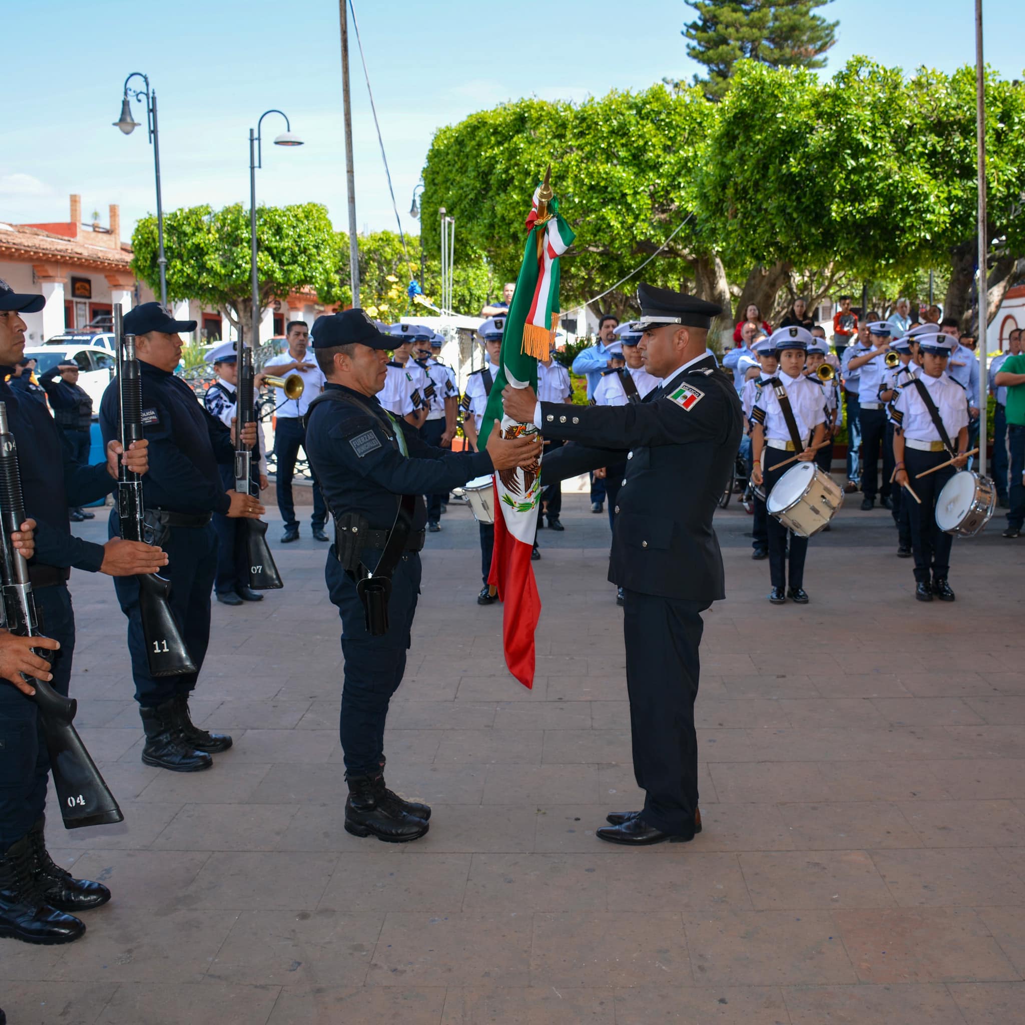
[[[121,610],[128,617],[128,651],[135,680],[135,700],[146,731],[142,762],[174,772],[196,772],[213,764],[210,753],[232,746],[232,738],[197,728],[189,714],[189,696],[203,666],[210,639],[210,591],[216,573],[217,535],[212,512],[258,518],[259,501],[225,491],[218,465],[235,462],[232,433],[197,401],[174,370],[181,359],[179,331],[194,331],[196,321],[175,321],[159,302],[144,302],[125,314],[124,332],[135,335],[142,385],[142,432],[150,443],[150,473],[142,480],[147,520],[169,558],[170,606],[196,672],[151,675],[147,660],[138,581],[115,581]],[[118,437],[120,395],[112,381],[99,404],[104,440]],[[256,440],[256,424],[246,425],[245,442]],[[121,529],[111,511],[111,536]]]

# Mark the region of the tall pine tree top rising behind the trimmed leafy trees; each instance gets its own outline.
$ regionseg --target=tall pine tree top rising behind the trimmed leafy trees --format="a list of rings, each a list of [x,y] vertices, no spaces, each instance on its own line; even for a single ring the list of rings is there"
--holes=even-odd
[[[836,22],[815,8],[832,0],[693,0],[697,18],[682,35],[687,54],[708,69],[694,76],[709,99],[721,99],[740,59],[772,68],[823,68],[822,54],[836,41]],[[679,83],[678,83],[679,84]]]

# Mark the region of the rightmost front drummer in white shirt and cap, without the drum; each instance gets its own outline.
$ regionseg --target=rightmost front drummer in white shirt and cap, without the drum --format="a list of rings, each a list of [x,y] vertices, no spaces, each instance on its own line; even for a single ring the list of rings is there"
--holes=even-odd
[[[907,502],[914,554],[914,597],[952,602],[948,583],[953,538],[936,524],[936,499],[943,485],[968,461],[969,402],[965,388],[944,371],[955,339],[933,333],[919,342],[921,374],[912,378],[894,403],[896,481],[914,489],[920,500]],[[949,466],[917,475],[955,457]],[[908,496],[910,497],[910,496]]]

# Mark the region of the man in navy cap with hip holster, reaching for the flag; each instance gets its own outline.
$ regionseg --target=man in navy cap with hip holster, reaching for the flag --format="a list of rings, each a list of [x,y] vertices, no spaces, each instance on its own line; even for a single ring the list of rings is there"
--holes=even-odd
[[[382,334],[359,309],[318,317],[310,343],[327,377],[311,403],[306,453],[335,522],[325,577],[341,616],[345,679],[339,732],[348,799],[345,830],[401,844],[422,836],[430,809],[384,783],[384,722],[406,668],[420,590],[424,494],[531,465],[537,445],[494,430],[485,452],[433,448],[376,399],[387,376]],[[369,578],[369,579],[368,579]]]

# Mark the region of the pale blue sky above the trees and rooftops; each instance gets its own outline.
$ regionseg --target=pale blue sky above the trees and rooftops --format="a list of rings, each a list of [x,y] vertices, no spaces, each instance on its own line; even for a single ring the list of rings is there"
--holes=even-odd
[[[410,197],[438,127],[507,98],[581,99],[696,70],[680,35],[693,12],[682,2],[355,3],[396,200],[414,234]],[[974,6],[834,0],[825,12],[840,23],[838,41],[825,73],[855,53],[905,69],[973,63]],[[985,9],[987,63],[1025,77],[1020,3],[986,0]],[[107,205],[119,203],[127,236],[155,209],[145,131],[125,137],[111,126],[124,78],[137,70],[157,90],[166,209],[248,202],[249,127],[280,108],[306,145],[264,147],[258,199],[316,200],[345,227],[334,0],[37,0],[10,5],[4,30],[0,220],[67,219],[68,194],[77,192],[86,217],[98,209],[105,223]],[[394,229],[355,38],[352,48],[358,224]],[[138,105],[135,119],[145,121]],[[283,126],[269,117],[264,138]]]

